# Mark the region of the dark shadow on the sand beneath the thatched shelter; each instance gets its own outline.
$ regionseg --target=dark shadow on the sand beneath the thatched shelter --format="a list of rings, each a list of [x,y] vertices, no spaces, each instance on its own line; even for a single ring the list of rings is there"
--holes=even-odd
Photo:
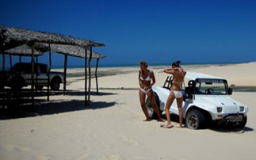
[[[34,116],[43,116],[48,114],[59,114],[67,113],[71,111],[80,110],[97,110],[101,108],[108,108],[114,106],[115,102],[101,102],[101,96],[103,95],[114,95],[109,92],[91,92],[91,95],[99,96],[99,101],[90,102],[89,106],[86,106],[85,100],[51,100],[52,95],[63,95],[63,92],[51,92],[50,100],[39,99],[37,97],[47,97],[47,92],[35,92],[35,107],[31,104],[31,98],[28,93],[24,92],[22,98],[11,99],[11,103],[8,102],[10,99],[5,100],[4,105],[1,103],[0,107],[0,119],[15,119],[15,118],[27,118]],[[67,90],[65,95],[70,96],[85,96],[85,92],[76,90]]]

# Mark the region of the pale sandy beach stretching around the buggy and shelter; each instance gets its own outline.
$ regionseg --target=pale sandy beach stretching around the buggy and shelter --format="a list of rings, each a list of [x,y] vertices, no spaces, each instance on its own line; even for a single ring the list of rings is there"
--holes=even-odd
[[[163,86],[166,79],[163,67],[149,64],[155,86]],[[229,86],[256,87],[256,62],[183,67],[225,78]],[[175,127],[162,129],[162,122],[142,121],[138,71],[139,67],[99,68],[99,95],[93,78],[91,103],[85,106],[83,70],[68,70],[65,95],[57,92],[49,102],[45,96],[36,97],[35,113],[0,116],[0,159],[255,158],[256,92],[231,95],[249,107],[243,129],[180,129],[175,116],[171,119]]]

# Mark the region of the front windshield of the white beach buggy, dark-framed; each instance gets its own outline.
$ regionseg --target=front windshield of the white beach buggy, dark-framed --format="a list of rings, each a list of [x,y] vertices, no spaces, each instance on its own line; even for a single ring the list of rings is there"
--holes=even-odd
[[[195,94],[228,94],[228,83],[225,79],[196,79],[195,82]]]

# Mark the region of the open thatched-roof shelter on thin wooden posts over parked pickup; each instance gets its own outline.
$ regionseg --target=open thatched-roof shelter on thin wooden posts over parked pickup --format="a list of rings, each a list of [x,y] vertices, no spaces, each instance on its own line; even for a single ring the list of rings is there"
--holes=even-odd
[[[0,53],[3,55],[4,70],[4,54],[30,56],[31,64],[34,65],[34,57],[43,55],[45,52],[50,54],[51,68],[51,52],[65,55],[65,71],[67,68],[67,56],[85,58],[85,77],[87,81],[87,58],[89,58],[89,92],[91,83],[91,58],[104,58],[105,56],[93,52],[92,47],[105,46],[102,43],[89,41],[72,36],[64,36],[62,34],[46,33],[41,31],[23,30],[20,28],[10,28],[0,26]],[[97,68],[96,68],[97,70]],[[33,81],[33,67],[31,71],[31,79]],[[65,73],[64,73],[65,74]],[[97,81],[97,76],[96,76]],[[85,84],[85,94],[87,92],[87,83]],[[31,86],[33,92],[33,82]],[[49,90],[49,87],[48,87]],[[64,82],[65,93],[65,82]],[[86,99],[87,100],[87,99]],[[87,103],[87,102],[86,102]]]

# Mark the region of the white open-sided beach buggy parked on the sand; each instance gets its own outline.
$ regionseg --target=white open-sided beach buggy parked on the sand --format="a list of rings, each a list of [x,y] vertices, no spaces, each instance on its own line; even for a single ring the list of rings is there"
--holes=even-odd
[[[232,89],[228,82],[220,77],[202,73],[190,73],[185,76],[188,86],[184,89],[183,117],[186,127],[200,129],[205,124],[226,122],[233,127],[243,128],[247,122],[248,108],[229,97]],[[165,103],[170,94],[171,74],[168,74],[163,87],[152,87],[160,113],[165,110]],[[149,99],[146,107],[151,118],[157,118]],[[178,115],[176,100],[170,108],[171,114]]]

